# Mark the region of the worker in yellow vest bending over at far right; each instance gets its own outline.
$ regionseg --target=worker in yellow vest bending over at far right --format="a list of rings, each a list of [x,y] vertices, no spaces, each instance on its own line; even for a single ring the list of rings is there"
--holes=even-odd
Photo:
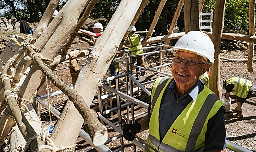
[[[246,99],[252,94],[254,87],[252,82],[240,77],[231,77],[227,80],[221,80],[221,88],[226,89],[225,98],[229,99],[230,92],[236,95],[237,107],[231,108],[236,114],[233,115],[233,118],[243,118],[242,105]]]

